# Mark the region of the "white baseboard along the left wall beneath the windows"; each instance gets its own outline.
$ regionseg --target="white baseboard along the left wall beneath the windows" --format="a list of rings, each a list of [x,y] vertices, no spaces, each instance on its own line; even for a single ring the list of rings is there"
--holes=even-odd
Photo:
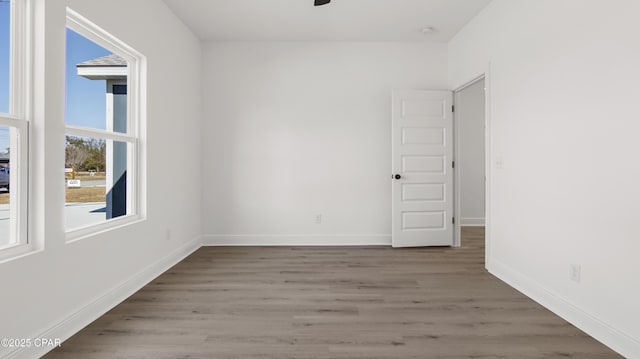
[[[182,245],[180,248],[176,249],[166,257],[142,269],[120,285],[106,292],[101,297],[78,309],[78,311],[65,318],[64,320],[55,323],[54,325],[49,327],[49,329],[43,331],[42,333],[32,336],[32,338],[59,338],[64,342],[72,335],[79,332],[82,328],[91,324],[91,322],[93,322],[94,320],[100,318],[116,305],[122,303],[125,299],[130,297],[133,293],[140,290],[155,278],[157,278],[160,274],[164,273],[166,270],[182,261],[188,255],[195,252],[201,246],[201,237],[196,237],[193,240],[186,242],[184,245]],[[50,350],[53,350],[53,348],[20,348],[6,353],[6,356],[4,356],[4,358],[40,358]]]

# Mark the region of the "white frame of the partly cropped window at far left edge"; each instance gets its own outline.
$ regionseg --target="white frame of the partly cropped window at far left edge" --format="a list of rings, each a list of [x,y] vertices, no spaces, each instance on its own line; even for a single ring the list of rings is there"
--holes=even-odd
[[[0,249],[0,263],[31,252],[28,237],[29,119],[31,116],[31,1],[13,0],[9,68],[9,113],[0,113],[0,126],[10,134],[10,236],[13,244]]]

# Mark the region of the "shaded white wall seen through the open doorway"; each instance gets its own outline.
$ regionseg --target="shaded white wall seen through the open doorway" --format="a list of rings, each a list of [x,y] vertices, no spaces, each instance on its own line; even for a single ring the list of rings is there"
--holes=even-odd
[[[460,225],[484,225],[484,80],[456,92]]]

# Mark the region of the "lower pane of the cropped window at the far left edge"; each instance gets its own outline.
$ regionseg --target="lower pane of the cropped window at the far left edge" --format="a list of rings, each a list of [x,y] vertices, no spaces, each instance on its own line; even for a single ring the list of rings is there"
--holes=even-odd
[[[15,244],[11,235],[11,197],[9,194],[11,176],[9,156],[11,153],[11,129],[0,126],[0,248]]]

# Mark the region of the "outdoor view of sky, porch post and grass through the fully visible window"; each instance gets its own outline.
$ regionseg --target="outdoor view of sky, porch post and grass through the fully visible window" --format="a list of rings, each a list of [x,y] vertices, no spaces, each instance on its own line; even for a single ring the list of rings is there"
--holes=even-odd
[[[129,63],[67,29],[66,228],[132,214],[136,137],[128,119]]]

